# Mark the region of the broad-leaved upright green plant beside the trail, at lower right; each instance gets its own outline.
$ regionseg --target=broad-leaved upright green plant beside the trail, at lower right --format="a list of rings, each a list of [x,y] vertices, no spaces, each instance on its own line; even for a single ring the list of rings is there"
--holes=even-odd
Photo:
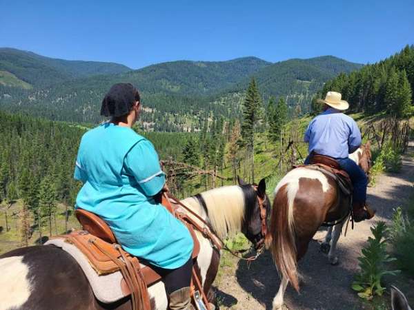
[[[368,244],[362,248],[362,256],[358,258],[359,273],[355,275],[352,288],[360,298],[372,300],[375,295],[382,296],[385,290],[381,285],[382,277],[399,272],[385,269],[386,262],[395,260],[386,254],[386,230],[385,222],[371,227],[374,238],[368,237]]]

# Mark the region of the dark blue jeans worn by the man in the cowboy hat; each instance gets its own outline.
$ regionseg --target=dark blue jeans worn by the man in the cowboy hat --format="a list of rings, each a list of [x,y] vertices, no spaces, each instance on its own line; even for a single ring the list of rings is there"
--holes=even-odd
[[[306,157],[304,164],[309,165],[310,158]],[[336,158],[342,169],[349,174],[353,184],[353,202],[365,203],[366,200],[366,186],[368,185],[368,178],[364,170],[359,167],[351,158]]]

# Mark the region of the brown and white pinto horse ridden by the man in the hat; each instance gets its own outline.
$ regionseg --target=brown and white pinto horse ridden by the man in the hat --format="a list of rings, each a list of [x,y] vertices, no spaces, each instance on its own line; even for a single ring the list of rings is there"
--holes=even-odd
[[[366,143],[349,156],[368,174],[371,166],[371,145]],[[273,300],[273,310],[281,309],[288,282],[299,291],[297,261],[308,249],[317,229],[324,222],[344,217],[349,198],[339,193],[335,180],[315,169],[299,167],[290,170],[275,188],[275,198],[270,216],[270,251],[276,267],[282,276],[279,291]],[[346,216],[346,213],[345,213]],[[344,221],[332,227],[325,238],[331,249],[328,259],[338,262],[336,245]]]

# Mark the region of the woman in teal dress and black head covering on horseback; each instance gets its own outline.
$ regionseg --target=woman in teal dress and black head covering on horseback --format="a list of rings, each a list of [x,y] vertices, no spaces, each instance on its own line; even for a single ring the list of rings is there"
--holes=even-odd
[[[86,132],[79,146],[76,207],[100,216],[126,251],[164,276],[170,309],[190,309],[193,238],[155,201],[168,188],[152,143],[132,130],[140,109],[132,84],[115,84],[106,94],[101,115],[110,121]]]

